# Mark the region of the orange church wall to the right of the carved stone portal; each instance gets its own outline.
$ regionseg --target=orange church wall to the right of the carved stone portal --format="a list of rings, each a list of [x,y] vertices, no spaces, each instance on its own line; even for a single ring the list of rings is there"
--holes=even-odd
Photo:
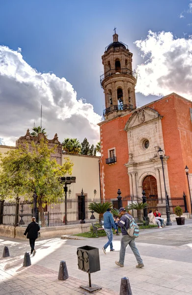
[[[192,151],[189,136],[190,132],[192,132],[189,111],[191,102],[172,94],[153,103],[150,107],[155,108],[161,116],[164,116],[162,119],[162,128],[165,154],[169,156],[167,168],[170,194],[172,198],[182,198],[183,192],[188,191],[187,177],[184,170],[185,161],[187,160],[192,167],[192,157],[189,155],[189,150]],[[188,148],[186,149],[185,146]],[[189,197],[187,198],[187,202],[189,209]],[[172,201],[172,205],[177,204],[177,201]]]

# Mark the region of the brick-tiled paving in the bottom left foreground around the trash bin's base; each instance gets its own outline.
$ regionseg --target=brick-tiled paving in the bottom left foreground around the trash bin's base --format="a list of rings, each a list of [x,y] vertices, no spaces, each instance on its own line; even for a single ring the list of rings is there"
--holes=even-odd
[[[90,294],[80,286],[87,285],[87,282],[73,277],[66,281],[58,280],[58,272],[43,266],[21,267],[19,271],[5,269],[4,263],[0,263],[0,295],[82,295]],[[112,291],[105,288],[94,292],[95,295],[115,295]]]

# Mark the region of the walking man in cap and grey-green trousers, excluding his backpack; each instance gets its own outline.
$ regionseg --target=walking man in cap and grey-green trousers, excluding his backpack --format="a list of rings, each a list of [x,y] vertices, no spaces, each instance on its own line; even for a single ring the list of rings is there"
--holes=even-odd
[[[128,235],[127,230],[129,229],[129,219],[132,219],[133,217],[128,214],[125,210],[125,208],[120,208],[119,213],[121,214],[120,220],[117,219],[118,226],[121,227],[121,233],[122,233],[122,238],[121,238],[121,248],[120,248],[120,253],[119,253],[119,261],[115,261],[117,266],[124,266],[124,260],[125,260],[125,250],[127,245],[129,244],[136,259],[137,259],[137,268],[143,267],[143,261],[140,257],[140,254],[138,252],[138,249],[136,247],[135,243],[135,238],[131,237]]]

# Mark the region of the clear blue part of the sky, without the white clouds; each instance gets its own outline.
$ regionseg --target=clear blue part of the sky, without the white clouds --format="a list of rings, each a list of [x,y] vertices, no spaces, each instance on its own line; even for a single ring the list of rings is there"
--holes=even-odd
[[[77,91],[77,98],[86,99],[102,115],[101,56],[112,41],[114,26],[119,40],[128,44],[134,54],[133,68],[137,68],[143,59],[134,42],[145,40],[149,30],[171,32],[176,39],[192,34],[190,3],[190,0],[1,0],[0,45],[15,51],[21,48],[23,59],[32,68],[64,77]],[[181,13],[183,17],[179,17]],[[148,92],[154,94],[154,90]],[[137,106],[158,98],[141,93],[136,96]]]

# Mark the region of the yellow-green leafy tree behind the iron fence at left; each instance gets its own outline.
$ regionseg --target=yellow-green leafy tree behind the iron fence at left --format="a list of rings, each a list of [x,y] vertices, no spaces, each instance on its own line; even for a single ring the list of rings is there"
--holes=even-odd
[[[47,140],[41,140],[38,145],[32,142],[30,151],[26,144],[25,148],[9,150],[5,157],[0,155],[0,198],[11,201],[22,196],[32,201],[35,192],[42,226],[46,203],[63,198],[60,177],[72,173],[73,163],[69,158],[61,166],[51,157],[55,148],[49,148]]]

